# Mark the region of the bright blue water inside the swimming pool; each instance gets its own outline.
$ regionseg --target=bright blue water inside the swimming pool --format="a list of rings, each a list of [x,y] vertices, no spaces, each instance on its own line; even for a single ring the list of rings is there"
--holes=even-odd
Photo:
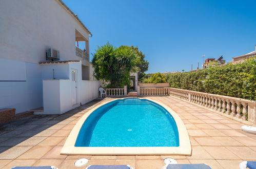
[[[75,146],[179,146],[179,133],[173,117],[161,105],[146,99],[119,99],[86,119]]]

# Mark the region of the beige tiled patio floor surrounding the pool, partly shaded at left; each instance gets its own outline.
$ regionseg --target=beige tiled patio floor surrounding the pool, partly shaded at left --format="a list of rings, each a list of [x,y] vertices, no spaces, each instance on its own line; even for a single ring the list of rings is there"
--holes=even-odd
[[[161,168],[168,157],[178,163],[206,163],[212,168],[239,168],[244,160],[256,160],[256,135],[241,131],[243,123],[173,97],[148,98],[168,105],[182,118],[190,136],[191,156],[60,155],[78,119],[96,105],[112,99],[105,98],[62,115],[32,115],[0,126],[0,168],[42,165],[76,168],[74,162],[80,158],[89,159],[88,164],[129,164],[136,169]]]

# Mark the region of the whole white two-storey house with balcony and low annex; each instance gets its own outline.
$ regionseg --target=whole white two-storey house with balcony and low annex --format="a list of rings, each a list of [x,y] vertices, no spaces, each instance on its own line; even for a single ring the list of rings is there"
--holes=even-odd
[[[0,109],[61,114],[98,97],[92,34],[61,0],[0,1],[0,25]],[[46,59],[48,49],[59,59]]]

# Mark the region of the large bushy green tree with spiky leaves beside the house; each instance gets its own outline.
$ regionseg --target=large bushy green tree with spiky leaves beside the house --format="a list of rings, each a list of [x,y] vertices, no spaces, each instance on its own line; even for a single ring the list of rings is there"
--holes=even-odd
[[[98,80],[103,79],[109,82],[109,87],[119,88],[129,86],[130,72],[135,72],[140,62],[140,57],[129,47],[116,48],[107,43],[93,54],[92,66]]]

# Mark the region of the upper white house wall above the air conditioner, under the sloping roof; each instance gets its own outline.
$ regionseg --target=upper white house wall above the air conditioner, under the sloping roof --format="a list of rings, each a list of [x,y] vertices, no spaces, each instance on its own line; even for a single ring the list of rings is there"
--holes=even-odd
[[[1,58],[38,63],[45,50],[60,51],[61,60],[75,56],[75,30],[89,40],[88,32],[57,0],[0,1]],[[89,53],[89,51],[88,51]],[[89,66],[89,62],[83,60]]]

